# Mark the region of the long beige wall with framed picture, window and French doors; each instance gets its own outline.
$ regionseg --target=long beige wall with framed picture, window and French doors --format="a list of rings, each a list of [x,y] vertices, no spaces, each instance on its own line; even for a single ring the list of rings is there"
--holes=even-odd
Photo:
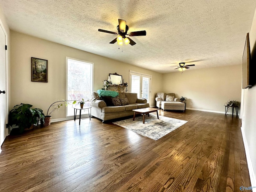
[[[66,56],[94,63],[95,91],[102,88],[102,81],[108,79],[109,73],[116,72],[123,76],[124,82],[129,82],[129,70],[152,75],[153,95],[162,90],[162,74],[96,54],[14,31],[11,31],[11,46],[10,108],[16,104],[29,103],[46,113],[54,101],[65,99]],[[31,57],[48,60],[48,83],[31,82]],[[154,97],[151,102],[154,103]],[[52,118],[64,118],[64,110],[61,108],[55,111]]]

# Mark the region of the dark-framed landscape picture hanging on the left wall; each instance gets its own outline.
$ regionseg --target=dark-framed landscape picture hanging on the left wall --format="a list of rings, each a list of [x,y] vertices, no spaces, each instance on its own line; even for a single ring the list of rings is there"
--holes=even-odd
[[[31,81],[47,82],[48,60],[31,57]]]

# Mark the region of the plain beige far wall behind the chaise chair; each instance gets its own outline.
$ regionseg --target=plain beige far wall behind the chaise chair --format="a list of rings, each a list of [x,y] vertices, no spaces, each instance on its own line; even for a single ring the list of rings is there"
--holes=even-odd
[[[186,97],[187,108],[224,112],[228,100],[240,102],[242,64],[163,75],[163,91]]]

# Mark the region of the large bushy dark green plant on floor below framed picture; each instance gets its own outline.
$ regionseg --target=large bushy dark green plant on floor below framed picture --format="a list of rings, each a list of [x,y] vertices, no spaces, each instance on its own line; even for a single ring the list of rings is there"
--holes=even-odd
[[[9,113],[8,124],[10,126],[17,125],[19,132],[33,128],[33,125],[38,125],[39,120],[44,124],[44,113],[42,109],[31,108],[32,105],[21,103],[14,106]]]

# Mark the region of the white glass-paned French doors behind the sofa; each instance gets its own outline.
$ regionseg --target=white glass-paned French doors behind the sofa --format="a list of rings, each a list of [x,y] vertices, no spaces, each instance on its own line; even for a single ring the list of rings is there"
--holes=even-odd
[[[144,98],[150,104],[151,75],[130,70],[130,92],[137,93],[138,98]]]

